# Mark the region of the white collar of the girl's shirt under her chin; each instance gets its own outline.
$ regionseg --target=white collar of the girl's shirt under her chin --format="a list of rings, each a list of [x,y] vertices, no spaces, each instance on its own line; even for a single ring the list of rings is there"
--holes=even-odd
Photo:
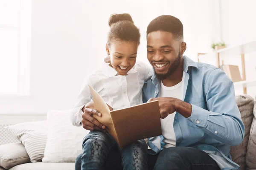
[[[102,71],[107,77],[114,77],[116,75],[119,75],[116,70],[111,67],[110,64],[110,56],[105,57],[104,59],[105,63],[102,65]],[[137,73],[137,71],[133,68],[127,72],[127,74],[133,74]]]

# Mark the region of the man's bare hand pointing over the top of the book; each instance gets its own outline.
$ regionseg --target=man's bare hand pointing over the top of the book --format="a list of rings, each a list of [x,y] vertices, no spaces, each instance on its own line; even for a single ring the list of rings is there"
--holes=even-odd
[[[166,118],[169,114],[172,114],[175,111],[186,118],[191,116],[192,106],[189,103],[173,97],[151,98],[148,100],[148,102],[155,100],[158,100],[160,116],[162,119]]]

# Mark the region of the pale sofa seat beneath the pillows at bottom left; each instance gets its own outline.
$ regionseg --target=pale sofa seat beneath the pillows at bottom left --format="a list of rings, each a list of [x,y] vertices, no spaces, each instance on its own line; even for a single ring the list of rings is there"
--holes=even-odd
[[[9,170],[74,170],[75,163],[48,163],[36,162],[28,164],[20,164]]]

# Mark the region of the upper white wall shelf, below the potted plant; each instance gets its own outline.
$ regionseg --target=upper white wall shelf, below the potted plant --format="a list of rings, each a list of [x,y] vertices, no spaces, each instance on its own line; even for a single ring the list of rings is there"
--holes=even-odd
[[[220,56],[223,56],[223,55],[241,55],[241,54],[251,53],[253,51],[256,51],[256,41],[248,42],[241,45],[236,45],[233,47],[222,48],[217,52],[220,54]]]

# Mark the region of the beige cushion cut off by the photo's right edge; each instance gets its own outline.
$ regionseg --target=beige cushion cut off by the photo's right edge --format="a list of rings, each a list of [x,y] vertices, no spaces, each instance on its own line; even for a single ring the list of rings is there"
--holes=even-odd
[[[246,164],[249,169],[256,169],[256,98],[254,99],[253,123],[250,129],[250,138],[247,147]]]

